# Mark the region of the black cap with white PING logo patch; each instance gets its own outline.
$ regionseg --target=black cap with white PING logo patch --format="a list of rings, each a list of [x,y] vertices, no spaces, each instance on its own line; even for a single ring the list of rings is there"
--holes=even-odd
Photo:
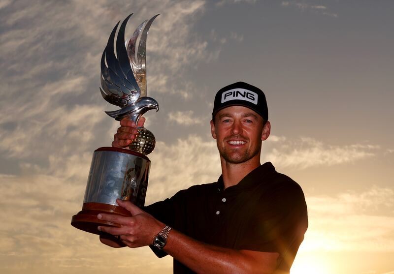
[[[212,120],[221,109],[244,106],[254,110],[264,121],[268,121],[268,107],[264,92],[245,82],[237,82],[220,89],[213,103]]]

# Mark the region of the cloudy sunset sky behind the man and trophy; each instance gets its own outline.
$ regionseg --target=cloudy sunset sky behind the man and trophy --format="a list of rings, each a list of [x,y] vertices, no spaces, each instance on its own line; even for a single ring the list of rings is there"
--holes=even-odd
[[[146,204],[221,174],[209,121],[220,88],[266,95],[262,162],[299,183],[309,228],[292,274],[394,274],[394,2],[0,0],[0,272],[172,273],[147,247],[75,229],[93,152],[117,107],[99,92],[108,36],[160,13],[147,92],[160,111]],[[128,37],[126,37],[128,38]]]

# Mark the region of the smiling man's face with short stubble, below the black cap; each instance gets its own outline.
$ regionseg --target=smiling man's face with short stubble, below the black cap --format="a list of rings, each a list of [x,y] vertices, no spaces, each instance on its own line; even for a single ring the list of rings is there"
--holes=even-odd
[[[260,161],[262,140],[268,137],[270,124],[263,126],[263,118],[247,107],[231,106],[215,115],[211,132],[227,162],[243,163],[254,157]]]

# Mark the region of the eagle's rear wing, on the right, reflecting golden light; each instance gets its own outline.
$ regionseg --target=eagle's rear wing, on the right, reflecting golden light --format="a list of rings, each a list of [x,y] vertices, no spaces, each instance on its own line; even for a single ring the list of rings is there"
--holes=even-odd
[[[141,25],[134,31],[127,45],[127,54],[129,56],[131,69],[135,75],[135,80],[141,89],[141,97],[147,96],[146,92],[146,38],[148,36],[148,30],[152,25],[153,20],[158,17],[159,14],[153,16],[149,21],[142,22]],[[142,30],[143,29],[143,30]],[[142,34],[140,32],[142,30]],[[139,38],[139,44],[137,52],[135,53],[135,45],[137,38]]]

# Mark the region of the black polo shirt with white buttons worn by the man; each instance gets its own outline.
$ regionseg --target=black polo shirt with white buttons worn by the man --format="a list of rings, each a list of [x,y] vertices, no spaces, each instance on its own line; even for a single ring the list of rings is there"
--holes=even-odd
[[[267,162],[238,184],[191,186],[145,208],[198,241],[232,249],[278,252],[278,273],[289,273],[308,227],[301,187]],[[154,250],[159,257],[165,252]],[[174,259],[174,273],[194,273]]]

